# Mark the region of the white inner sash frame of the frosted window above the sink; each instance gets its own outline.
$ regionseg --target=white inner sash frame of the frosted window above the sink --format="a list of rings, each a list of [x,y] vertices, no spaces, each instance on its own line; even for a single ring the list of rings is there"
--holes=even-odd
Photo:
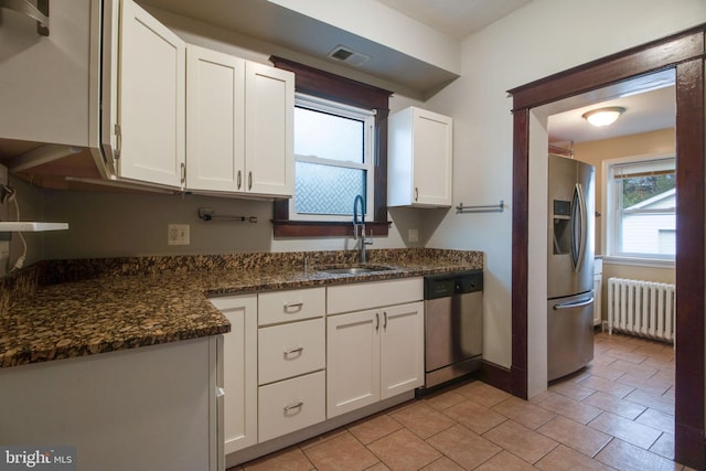
[[[363,161],[364,163],[324,159],[315,156],[299,156],[295,153],[295,161],[319,163],[322,165],[334,165],[347,169],[357,169],[366,171],[366,194],[365,194],[365,218],[372,221],[373,210],[375,208],[375,115],[374,109],[363,109],[354,106],[345,105],[338,101],[328,100],[324,98],[318,98],[311,95],[301,93],[295,94],[295,106],[303,108],[310,108],[317,111],[325,111],[336,116],[343,116],[346,118],[357,119],[364,121],[364,140],[367,144],[364,148]],[[295,176],[296,178],[296,176]],[[327,221],[327,222],[350,222],[351,216],[346,215],[333,215],[333,214],[300,214],[297,213],[295,204],[295,196],[289,199],[289,218],[291,221]],[[351,212],[353,212],[353,202],[351,201]]]

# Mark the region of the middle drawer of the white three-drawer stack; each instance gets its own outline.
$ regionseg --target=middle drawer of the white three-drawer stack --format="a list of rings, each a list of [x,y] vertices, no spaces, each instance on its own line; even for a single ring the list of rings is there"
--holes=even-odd
[[[325,367],[323,318],[260,328],[258,331],[258,384]]]

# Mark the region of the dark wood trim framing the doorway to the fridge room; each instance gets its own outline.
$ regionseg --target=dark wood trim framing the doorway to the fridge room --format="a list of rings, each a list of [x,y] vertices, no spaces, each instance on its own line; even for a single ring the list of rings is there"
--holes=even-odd
[[[510,90],[513,95],[511,388],[527,395],[527,244],[532,108],[661,69],[676,71],[677,236],[675,459],[706,465],[704,446],[704,31],[706,25]]]

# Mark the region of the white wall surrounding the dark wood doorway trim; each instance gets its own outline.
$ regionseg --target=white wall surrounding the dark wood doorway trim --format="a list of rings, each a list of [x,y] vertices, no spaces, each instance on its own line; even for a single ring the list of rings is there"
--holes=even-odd
[[[427,104],[454,118],[453,204],[512,201],[513,121],[507,89],[704,22],[703,0],[668,4],[663,0],[535,0],[469,36],[463,43],[461,78]],[[597,25],[600,34],[595,34]],[[531,154],[533,168],[545,165],[544,160],[545,154]],[[536,181],[531,181],[530,191],[531,200],[542,197]],[[449,213],[429,240],[432,247],[486,253],[484,357],[502,366],[510,366],[512,360],[512,207],[509,210],[484,215]],[[545,216],[531,210],[531,221]],[[535,237],[539,235],[531,234],[531,245]],[[545,271],[544,260],[531,257],[530,274]],[[546,306],[537,302],[530,306],[531,324],[546,322],[541,319]],[[530,351],[541,350],[542,341],[531,338]],[[530,361],[531,378],[546,371],[545,358],[531,356]],[[531,385],[531,395],[538,393],[537,384]]]

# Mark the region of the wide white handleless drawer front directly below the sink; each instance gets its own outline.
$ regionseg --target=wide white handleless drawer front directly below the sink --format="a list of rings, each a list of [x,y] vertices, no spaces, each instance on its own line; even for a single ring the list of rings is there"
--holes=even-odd
[[[362,311],[420,301],[422,298],[422,278],[332,286],[328,291],[327,313]]]

